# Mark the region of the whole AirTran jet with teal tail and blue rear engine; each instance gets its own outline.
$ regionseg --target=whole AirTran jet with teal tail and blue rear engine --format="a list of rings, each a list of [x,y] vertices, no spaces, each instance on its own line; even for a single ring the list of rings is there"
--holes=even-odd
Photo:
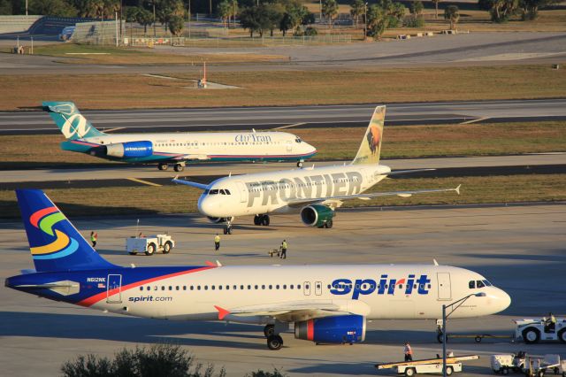
[[[44,102],[61,130],[62,150],[136,164],[171,164],[181,172],[187,161],[297,161],[301,167],[317,150],[286,132],[207,132],[162,134],[104,134],[83,117],[72,102]]]

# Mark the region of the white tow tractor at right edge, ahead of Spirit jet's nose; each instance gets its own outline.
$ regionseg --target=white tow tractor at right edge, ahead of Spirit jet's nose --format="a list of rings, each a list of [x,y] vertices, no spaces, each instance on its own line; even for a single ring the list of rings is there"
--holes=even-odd
[[[515,338],[527,344],[540,341],[566,343],[566,319],[557,318],[555,325],[548,319],[513,319],[516,324]]]

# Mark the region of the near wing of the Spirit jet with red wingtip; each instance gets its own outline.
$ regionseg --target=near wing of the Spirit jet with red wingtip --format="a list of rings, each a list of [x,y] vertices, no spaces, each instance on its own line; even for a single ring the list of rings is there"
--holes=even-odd
[[[279,304],[261,304],[251,306],[241,306],[233,309],[224,309],[215,306],[218,310],[218,319],[228,319],[230,317],[249,317],[249,316],[269,316],[279,319],[282,322],[293,322],[297,320],[307,320],[321,317],[331,317],[336,315],[352,314],[344,310],[343,305],[333,304],[330,300],[305,300]],[[230,316],[230,317],[228,317]]]

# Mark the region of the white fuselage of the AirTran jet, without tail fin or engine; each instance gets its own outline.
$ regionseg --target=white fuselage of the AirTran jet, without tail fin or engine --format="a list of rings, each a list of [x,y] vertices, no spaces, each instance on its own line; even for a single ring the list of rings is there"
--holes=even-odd
[[[103,145],[148,141],[152,142],[155,155],[187,155],[189,159],[203,160],[302,159],[317,151],[309,143],[286,132],[119,134],[82,140]]]

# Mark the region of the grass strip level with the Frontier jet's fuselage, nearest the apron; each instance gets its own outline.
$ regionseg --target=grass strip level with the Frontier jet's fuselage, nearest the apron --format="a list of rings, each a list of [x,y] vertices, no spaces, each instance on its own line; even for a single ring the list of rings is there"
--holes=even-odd
[[[373,191],[420,188],[455,188],[462,184],[462,195],[438,193],[401,198],[381,197],[370,201],[348,200],[344,207],[417,204],[479,204],[512,202],[553,202],[566,200],[566,174],[531,174],[491,177],[436,179],[386,179]],[[196,212],[201,191],[180,186],[139,188],[48,189],[47,195],[67,216],[111,216]],[[182,205],[179,205],[179,204]],[[340,212],[340,210],[339,210]],[[14,191],[0,191],[0,219],[19,218]]]

